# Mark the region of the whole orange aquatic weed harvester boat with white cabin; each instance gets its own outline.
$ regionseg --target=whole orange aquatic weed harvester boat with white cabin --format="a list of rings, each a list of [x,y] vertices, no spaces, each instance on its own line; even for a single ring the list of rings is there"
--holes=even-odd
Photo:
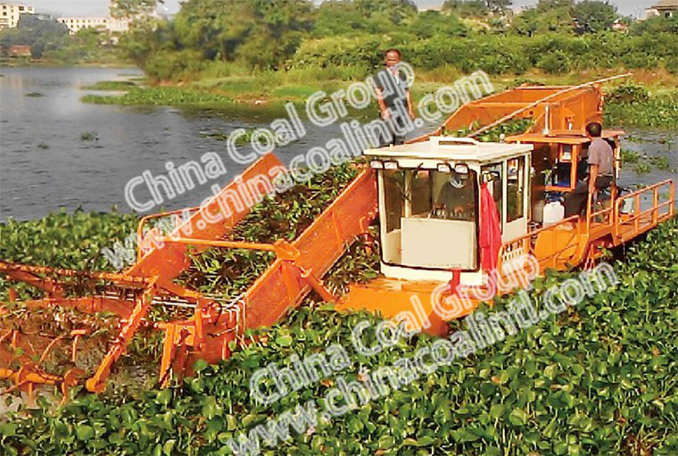
[[[517,87],[465,104],[431,135],[405,145],[365,151],[369,166],[294,241],[258,243],[228,240],[249,209],[231,212],[211,223],[220,202],[244,183],[258,198],[270,188],[260,176],[284,170],[269,153],[224,187],[210,203],[190,208],[168,236],[149,228],[153,220],[182,211],[142,218],[137,228],[134,265],[119,272],[53,269],[0,261],[0,273],[40,290],[43,297],[22,304],[28,309],[68,308],[86,315],[116,316],[117,336],[108,343],[103,360],[92,372],[77,363],[79,342],[95,327],[74,327],[67,334],[46,334],[31,326],[30,314],[21,325],[0,334],[0,378],[12,388],[32,394],[36,385],[58,385],[64,398],[71,386],[84,382],[102,392],[112,367],[140,328],[163,333],[161,384],[171,373],[182,377],[194,362],[227,359],[246,344],[247,329],[266,327],[315,291],[338,311],[378,311],[386,318],[409,312],[418,327],[434,335],[446,330],[434,312],[435,290],[445,284],[483,288],[492,271],[509,261],[531,255],[539,266],[553,269],[592,264],[601,249],[624,244],[674,216],[674,182],[666,180],[622,195],[613,184],[609,195],[590,195],[585,215],[562,217],[561,196],[572,192],[585,169],[590,143],[583,134],[591,121],[602,118],[602,81],[576,87]],[[473,137],[505,120],[530,119],[525,133],[502,143],[481,143]],[[447,131],[473,129],[467,137]],[[619,137],[604,130],[615,150],[615,172],[621,170]],[[444,195],[444,196],[443,196]],[[600,201],[595,201],[599,199]],[[441,203],[442,201],[448,203]],[[548,202],[548,203],[547,203]],[[337,296],[322,278],[359,236],[378,219],[381,277],[352,285]],[[194,252],[237,249],[273,253],[275,261],[243,294],[225,299],[180,283]],[[455,288],[449,286],[451,293]],[[17,294],[11,289],[10,300]],[[477,304],[477,303],[475,303]],[[153,320],[153,307],[182,307],[190,318]],[[465,308],[454,318],[472,311]],[[50,373],[52,353],[68,352],[70,369]]]

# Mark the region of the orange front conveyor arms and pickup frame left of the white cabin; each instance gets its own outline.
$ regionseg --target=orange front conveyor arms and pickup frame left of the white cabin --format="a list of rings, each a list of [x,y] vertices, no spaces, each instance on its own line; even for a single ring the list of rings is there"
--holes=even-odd
[[[30,307],[64,306],[86,313],[112,311],[120,317],[119,336],[110,345],[95,374],[87,379],[87,389],[92,392],[103,391],[114,362],[125,352],[136,330],[142,324],[149,323],[145,317],[156,299],[178,298],[193,304],[195,310],[190,319],[153,323],[156,329],[165,332],[160,378],[161,383],[166,384],[170,379],[170,369],[174,369],[181,377],[186,371],[191,371],[191,366],[198,359],[211,362],[226,359],[230,354],[229,343],[242,336],[246,328],[273,324],[290,307],[301,303],[311,289],[327,301],[335,299],[319,278],[332,267],[356,236],[367,231],[369,223],[376,216],[376,180],[368,168],[361,168],[359,175],[335,202],[293,243],[277,241],[274,244],[260,244],[221,240],[244,218],[249,208],[241,208],[240,211],[234,208],[233,213],[222,223],[207,221],[213,220],[210,214],[219,211],[218,198],[225,199],[227,195],[252,182],[251,193],[260,198],[269,194],[272,188],[264,185],[259,178],[266,176],[270,179],[284,170],[285,167],[275,155],[269,153],[203,207],[145,216],[137,229],[137,261],[122,273],[52,269],[4,261],[0,261],[0,273],[44,291],[43,299],[27,303]],[[176,216],[186,211],[193,214],[175,228],[170,236],[163,237],[154,229],[145,233],[145,225],[149,220]],[[243,296],[224,308],[211,297],[174,283],[173,279],[190,265],[187,255],[189,245],[197,249],[265,250],[275,253],[277,259]],[[64,297],[61,278],[67,277],[104,282],[117,289],[131,290],[134,298],[116,298],[111,295]],[[12,289],[10,294],[11,299],[15,299],[16,294]],[[70,335],[75,337],[73,360],[78,337],[83,335]],[[78,384],[78,377],[83,374],[78,369],[71,369],[63,377],[54,376],[46,373],[27,356],[40,355],[40,359],[44,360],[53,347],[54,341],[35,352],[28,337],[21,335],[21,328],[7,330],[0,335],[0,377],[12,378],[14,388],[29,392],[33,391],[35,384],[60,384],[62,388]],[[17,348],[25,353],[19,358],[13,355]],[[29,352],[31,348],[34,351],[32,353]],[[17,364],[17,361],[21,368],[12,369],[11,365]]]

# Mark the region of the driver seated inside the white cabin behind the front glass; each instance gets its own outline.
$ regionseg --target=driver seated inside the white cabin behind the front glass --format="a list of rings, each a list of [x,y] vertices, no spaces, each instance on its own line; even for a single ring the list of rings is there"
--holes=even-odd
[[[443,184],[434,214],[447,220],[475,220],[475,191],[467,173],[454,172]]]

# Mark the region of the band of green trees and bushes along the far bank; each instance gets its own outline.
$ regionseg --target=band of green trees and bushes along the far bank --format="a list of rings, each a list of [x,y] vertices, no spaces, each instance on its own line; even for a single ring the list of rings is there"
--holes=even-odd
[[[418,12],[409,0],[189,0],[173,21],[139,25],[122,46],[153,79],[336,65],[360,67],[364,75],[391,46],[419,69],[674,70],[678,20],[657,18],[613,32],[619,16],[603,2],[542,0],[511,21],[509,4],[456,1],[443,12]],[[465,17],[475,19],[459,19]]]

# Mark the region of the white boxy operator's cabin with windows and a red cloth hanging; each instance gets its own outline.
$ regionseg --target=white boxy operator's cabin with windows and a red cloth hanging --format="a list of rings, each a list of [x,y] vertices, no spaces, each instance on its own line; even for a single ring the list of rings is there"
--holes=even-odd
[[[459,270],[462,284],[482,285],[484,224],[498,220],[496,242],[527,233],[532,150],[459,137],[368,149],[377,175],[384,275],[447,281]]]

